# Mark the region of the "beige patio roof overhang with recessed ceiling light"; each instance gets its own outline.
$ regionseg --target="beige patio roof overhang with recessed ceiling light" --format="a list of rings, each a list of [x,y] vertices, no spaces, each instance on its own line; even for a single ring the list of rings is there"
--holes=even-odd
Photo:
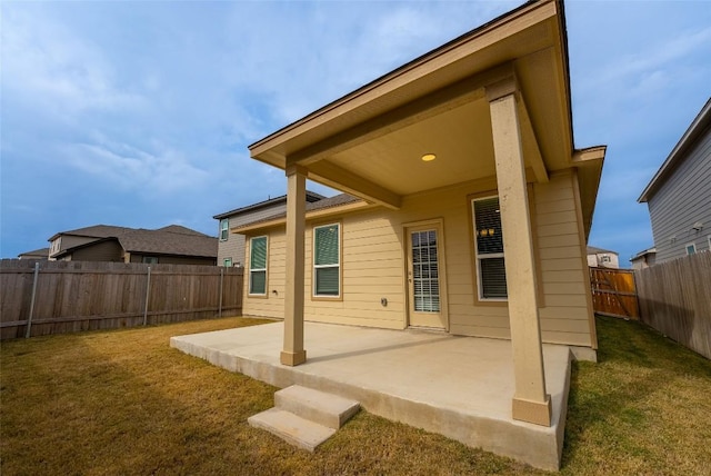
[[[495,176],[487,91],[513,81],[527,176],[579,169],[590,229],[604,148],[575,151],[561,1],[527,2],[250,146],[369,202]],[[422,155],[438,156],[432,162]]]

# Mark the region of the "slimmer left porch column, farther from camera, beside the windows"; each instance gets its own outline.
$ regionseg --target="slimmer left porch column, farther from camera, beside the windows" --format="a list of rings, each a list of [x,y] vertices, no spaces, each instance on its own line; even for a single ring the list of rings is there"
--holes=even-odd
[[[303,229],[306,225],[306,176],[300,166],[287,169],[287,279],[284,295],[284,347],[280,360],[297,366],[307,360],[303,349]]]

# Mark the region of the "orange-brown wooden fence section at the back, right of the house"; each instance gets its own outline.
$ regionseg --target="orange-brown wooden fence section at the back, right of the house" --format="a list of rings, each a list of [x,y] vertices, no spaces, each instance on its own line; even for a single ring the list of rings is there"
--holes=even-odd
[[[631,269],[590,268],[592,307],[605,316],[639,319],[640,311]]]

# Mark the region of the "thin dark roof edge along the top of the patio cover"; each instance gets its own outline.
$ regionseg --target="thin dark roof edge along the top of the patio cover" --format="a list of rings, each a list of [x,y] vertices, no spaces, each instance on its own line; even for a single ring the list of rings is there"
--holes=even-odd
[[[322,116],[327,112],[329,112],[330,110],[337,109],[340,106],[348,103],[349,101],[353,100],[354,98],[358,98],[359,96],[362,96],[363,93],[372,90],[372,89],[377,89],[378,87],[387,83],[388,81],[392,80],[393,78],[397,78],[398,76],[403,75],[404,72],[417,68],[418,66],[421,66],[423,63],[427,63],[428,61],[443,54],[444,52],[457,48],[459,44],[464,43],[467,41],[469,41],[472,38],[475,38],[480,34],[483,34],[487,32],[487,30],[490,30],[497,27],[497,23],[504,23],[515,17],[518,17],[522,11],[531,8],[532,6],[537,6],[537,4],[545,4],[545,3],[550,3],[551,1],[553,1],[558,8],[561,8],[561,13],[562,13],[562,0],[529,0],[524,3],[522,3],[521,6],[514,8],[513,10],[509,10],[508,12],[500,14],[499,17],[494,18],[493,20],[490,20],[477,28],[474,28],[473,30],[468,31],[467,33],[463,33],[457,38],[454,38],[451,41],[448,41],[447,43],[413,59],[412,61],[409,61],[407,63],[404,63],[403,66],[381,76],[380,78],[374,79],[373,81],[356,89],[354,91],[332,101],[329,102],[328,105],[317,109],[316,111],[311,112],[310,115],[294,121],[291,122],[290,125],[287,125],[284,127],[282,127],[281,129],[277,130],[276,132],[272,132],[271,135],[251,143],[248,149],[250,151],[253,151],[253,149],[262,146],[266,142],[269,142],[271,140],[277,139],[279,136],[282,136],[289,131],[291,131],[292,129],[297,129],[312,120],[314,120],[316,118],[318,118],[319,116]],[[564,28],[564,24],[561,26],[562,28]],[[563,30],[564,31],[564,30]],[[563,32],[563,39],[565,38],[565,34]],[[567,41],[567,40],[565,40]],[[564,53],[567,54],[567,49],[564,51]],[[565,73],[568,73],[568,59],[565,59],[565,65],[564,67],[565,69]],[[567,75],[568,77],[568,75]],[[570,88],[569,88],[570,89]],[[570,105],[569,108],[570,110]],[[572,136],[571,136],[572,137]],[[252,158],[257,158],[254,156],[252,156]]]

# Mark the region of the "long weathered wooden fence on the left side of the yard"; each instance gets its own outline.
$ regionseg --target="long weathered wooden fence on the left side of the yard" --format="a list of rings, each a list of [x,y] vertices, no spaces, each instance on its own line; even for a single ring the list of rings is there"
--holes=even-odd
[[[242,310],[242,269],[3,259],[0,338],[177,323]]]

